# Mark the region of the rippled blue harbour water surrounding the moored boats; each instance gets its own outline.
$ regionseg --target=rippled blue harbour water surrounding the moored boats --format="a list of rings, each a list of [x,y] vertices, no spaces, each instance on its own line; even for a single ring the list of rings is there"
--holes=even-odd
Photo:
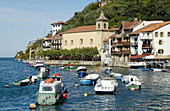
[[[60,71],[58,67],[50,67],[50,75],[60,73],[63,83],[69,90],[68,98],[55,106],[37,106],[36,111],[65,111],[65,110],[99,110],[99,111],[140,111],[140,110],[170,110],[170,73],[142,72],[137,69],[113,68],[114,72],[136,75],[142,82],[140,91],[130,91],[126,85],[118,81],[119,87],[114,95],[96,95],[94,86],[79,86],[79,79],[74,71]],[[88,67],[97,73],[101,67]],[[37,70],[15,61],[13,58],[0,58],[0,110],[1,111],[29,111],[29,105],[36,103],[37,83],[16,87],[13,81],[36,75]],[[101,74],[101,73],[100,73]],[[101,74],[109,76],[108,74]],[[5,88],[9,85],[9,88]],[[89,96],[84,97],[84,93]]]

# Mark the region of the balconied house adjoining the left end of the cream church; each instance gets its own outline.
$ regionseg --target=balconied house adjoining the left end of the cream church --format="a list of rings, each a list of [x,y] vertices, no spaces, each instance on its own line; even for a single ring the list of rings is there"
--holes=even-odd
[[[50,38],[45,38],[43,41],[43,48],[44,50],[60,50],[62,48],[62,34],[60,33]]]

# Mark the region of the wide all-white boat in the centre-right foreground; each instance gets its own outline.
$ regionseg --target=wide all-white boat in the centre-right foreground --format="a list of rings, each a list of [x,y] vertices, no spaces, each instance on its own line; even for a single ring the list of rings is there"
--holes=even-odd
[[[113,94],[118,88],[118,82],[115,78],[105,77],[98,79],[94,87],[95,93],[111,93]]]

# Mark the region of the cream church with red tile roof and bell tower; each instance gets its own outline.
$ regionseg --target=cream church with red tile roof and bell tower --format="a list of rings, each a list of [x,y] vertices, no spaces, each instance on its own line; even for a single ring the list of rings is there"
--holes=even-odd
[[[104,16],[103,11],[96,25],[79,26],[63,32],[63,49],[74,49],[83,47],[97,47],[99,52],[104,47],[103,41],[113,35],[115,28],[110,27],[108,19]]]

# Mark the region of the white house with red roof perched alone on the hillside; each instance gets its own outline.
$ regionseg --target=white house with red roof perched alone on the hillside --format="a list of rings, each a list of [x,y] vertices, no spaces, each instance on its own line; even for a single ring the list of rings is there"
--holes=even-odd
[[[62,29],[64,24],[65,22],[62,22],[62,21],[52,23],[51,24],[52,25],[52,36],[56,35],[57,32]]]

